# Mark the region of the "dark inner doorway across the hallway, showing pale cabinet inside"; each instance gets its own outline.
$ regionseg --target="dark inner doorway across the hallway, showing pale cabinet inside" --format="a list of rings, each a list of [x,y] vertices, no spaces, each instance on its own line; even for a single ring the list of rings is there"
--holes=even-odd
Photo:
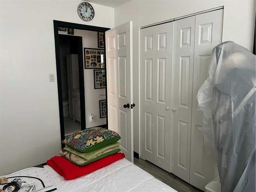
[[[79,44],[82,44],[82,37],[59,34],[60,84],[65,135],[80,131],[83,128],[81,124],[85,121],[81,111],[81,108],[84,109],[84,100],[80,100],[80,92],[82,93],[83,90],[80,90],[79,86],[79,81],[82,81],[79,79]]]

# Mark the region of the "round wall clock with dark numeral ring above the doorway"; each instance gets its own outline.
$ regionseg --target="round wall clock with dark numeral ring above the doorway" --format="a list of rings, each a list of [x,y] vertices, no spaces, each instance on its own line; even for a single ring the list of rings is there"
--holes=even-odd
[[[82,2],[78,5],[77,13],[79,17],[86,22],[89,22],[94,17],[94,9],[91,4],[87,2]]]

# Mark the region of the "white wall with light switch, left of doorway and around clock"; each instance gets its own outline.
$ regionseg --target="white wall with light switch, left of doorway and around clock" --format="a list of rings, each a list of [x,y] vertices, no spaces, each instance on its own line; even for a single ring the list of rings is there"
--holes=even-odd
[[[92,4],[83,22],[73,1],[0,2],[0,175],[46,162],[60,150],[53,20],[114,26],[114,9]]]

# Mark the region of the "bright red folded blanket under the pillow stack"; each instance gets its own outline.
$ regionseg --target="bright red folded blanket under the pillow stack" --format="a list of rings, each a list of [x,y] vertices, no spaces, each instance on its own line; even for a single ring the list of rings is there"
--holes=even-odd
[[[98,161],[94,161],[93,163],[81,167],[73,164],[64,157],[54,156],[47,161],[47,164],[66,180],[72,180],[94,172],[95,170],[105,167],[122,158],[124,158],[123,153],[116,153],[114,155],[104,157]]]

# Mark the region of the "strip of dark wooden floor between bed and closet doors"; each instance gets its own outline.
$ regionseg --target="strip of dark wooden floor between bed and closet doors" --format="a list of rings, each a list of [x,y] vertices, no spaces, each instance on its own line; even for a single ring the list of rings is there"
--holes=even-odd
[[[188,184],[177,176],[166,172],[165,170],[154,165],[151,162],[134,158],[134,164],[179,192],[202,192],[202,190]]]

